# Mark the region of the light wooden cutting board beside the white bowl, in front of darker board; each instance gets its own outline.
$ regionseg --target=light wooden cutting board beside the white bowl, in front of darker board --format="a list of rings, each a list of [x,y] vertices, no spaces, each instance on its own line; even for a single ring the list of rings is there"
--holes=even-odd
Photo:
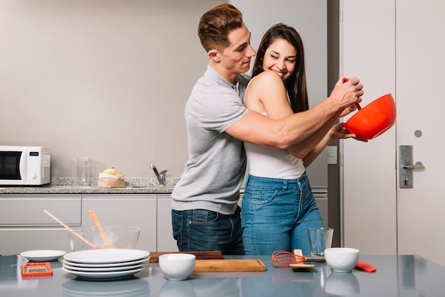
[[[234,272],[266,271],[264,263],[258,259],[208,259],[195,262],[194,272]]]

